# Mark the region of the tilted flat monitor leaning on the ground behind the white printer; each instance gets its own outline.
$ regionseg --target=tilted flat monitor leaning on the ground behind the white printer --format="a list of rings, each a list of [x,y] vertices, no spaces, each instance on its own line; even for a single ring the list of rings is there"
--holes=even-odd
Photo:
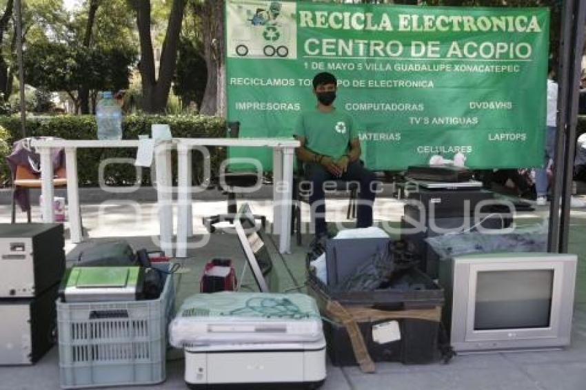
[[[238,210],[234,218],[234,227],[256,285],[261,292],[270,292],[268,276],[272,271],[272,259],[263,240],[261,227],[256,225],[254,214],[247,203]]]

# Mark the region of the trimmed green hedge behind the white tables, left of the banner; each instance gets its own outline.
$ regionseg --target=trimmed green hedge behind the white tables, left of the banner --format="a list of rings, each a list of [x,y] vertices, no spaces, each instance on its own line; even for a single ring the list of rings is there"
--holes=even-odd
[[[137,139],[139,134],[150,134],[153,123],[170,125],[173,136],[176,137],[223,137],[225,136],[225,121],[215,116],[163,116],[163,115],[130,115],[124,116],[122,132],[124,139]],[[20,119],[18,116],[0,116],[0,126],[8,130],[8,145],[21,138]],[[92,115],[81,116],[48,116],[27,119],[27,136],[56,136],[65,139],[97,139],[97,125]],[[115,149],[80,149],[77,152],[77,169],[79,185],[95,187],[99,185],[98,168],[103,158],[134,158],[135,148]],[[217,172],[219,164],[225,158],[225,149],[210,148],[212,174]],[[174,156],[174,159],[176,156]],[[201,182],[201,154],[194,152],[194,183]],[[7,174],[6,161],[2,158],[0,169],[0,184],[10,185],[10,176]],[[175,163],[174,163],[174,166]],[[108,185],[134,185],[137,181],[134,165],[108,165],[105,170],[105,181]],[[141,184],[150,185],[150,169],[143,168]],[[174,170],[176,181],[176,170]]]

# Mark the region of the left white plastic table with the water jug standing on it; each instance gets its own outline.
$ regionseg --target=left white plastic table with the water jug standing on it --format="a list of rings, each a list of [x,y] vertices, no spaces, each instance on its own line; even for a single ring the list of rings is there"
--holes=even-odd
[[[73,243],[82,240],[81,216],[79,215],[79,186],[77,181],[77,149],[110,148],[110,147],[138,147],[139,140],[65,140],[65,139],[38,139],[31,143],[41,156],[41,194],[43,203],[43,222],[54,221],[53,201],[53,165],[51,150],[63,147],[65,149],[65,164],[67,171],[67,195],[70,220],[70,234]],[[161,229],[161,249],[166,256],[173,256],[173,209],[172,209],[172,162],[171,141],[157,143],[155,147],[156,164],[156,192],[159,204],[159,224]]]

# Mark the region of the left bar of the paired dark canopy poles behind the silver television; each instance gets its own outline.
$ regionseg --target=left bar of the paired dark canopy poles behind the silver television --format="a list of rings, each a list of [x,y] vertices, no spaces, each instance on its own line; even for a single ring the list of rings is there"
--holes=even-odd
[[[575,6],[576,0],[564,1],[560,32],[560,55],[557,72],[559,81],[558,114],[553,172],[554,188],[552,189],[552,203],[549,206],[549,235],[547,239],[547,251],[554,253],[557,253],[560,247],[560,198],[565,176],[562,173],[565,168],[565,127],[567,123],[569,63],[572,55],[572,26],[574,25]]]

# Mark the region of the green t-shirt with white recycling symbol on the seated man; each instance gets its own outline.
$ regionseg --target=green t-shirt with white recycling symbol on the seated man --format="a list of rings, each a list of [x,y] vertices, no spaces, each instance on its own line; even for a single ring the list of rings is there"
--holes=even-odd
[[[343,156],[348,143],[358,137],[352,116],[343,110],[322,112],[317,108],[302,112],[295,125],[295,135],[305,138],[305,147],[334,159]]]

